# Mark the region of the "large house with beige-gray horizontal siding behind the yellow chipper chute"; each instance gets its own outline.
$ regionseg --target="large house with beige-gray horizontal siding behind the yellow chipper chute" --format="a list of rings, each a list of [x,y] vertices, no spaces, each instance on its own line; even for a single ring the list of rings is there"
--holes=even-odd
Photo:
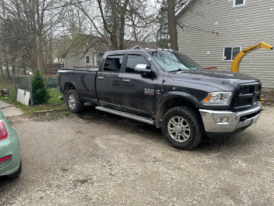
[[[260,42],[274,45],[271,0],[188,0],[177,12],[179,52],[202,67],[230,71],[240,52]],[[240,72],[274,88],[274,51],[257,49],[240,63]]]

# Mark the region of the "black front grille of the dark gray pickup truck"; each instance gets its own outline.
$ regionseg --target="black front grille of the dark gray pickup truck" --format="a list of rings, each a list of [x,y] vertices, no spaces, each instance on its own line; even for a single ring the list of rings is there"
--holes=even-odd
[[[251,84],[240,84],[232,101],[232,110],[240,110],[255,106],[260,101],[262,84],[260,82]]]

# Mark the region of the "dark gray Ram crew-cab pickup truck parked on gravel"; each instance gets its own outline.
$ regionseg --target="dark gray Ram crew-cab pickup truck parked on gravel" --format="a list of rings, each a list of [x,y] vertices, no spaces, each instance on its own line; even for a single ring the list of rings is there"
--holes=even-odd
[[[260,80],[202,69],[173,51],[107,52],[99,69],[60,69],[58,85],[73,113],[91,102],[101,111],[162,128],[169,143],[182,150],[194,148],[205,135],[245,130],[262,109]]]

